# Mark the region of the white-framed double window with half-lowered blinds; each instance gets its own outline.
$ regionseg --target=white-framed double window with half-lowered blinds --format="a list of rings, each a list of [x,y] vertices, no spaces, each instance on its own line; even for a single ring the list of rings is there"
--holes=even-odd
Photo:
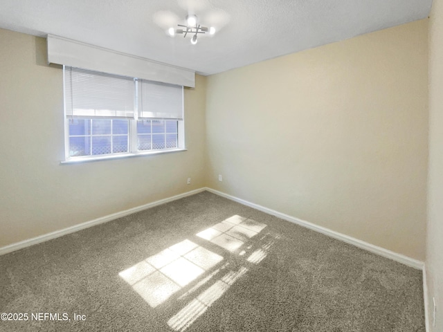
[[[64,67],[66,160],[184,148],[183,86]]]

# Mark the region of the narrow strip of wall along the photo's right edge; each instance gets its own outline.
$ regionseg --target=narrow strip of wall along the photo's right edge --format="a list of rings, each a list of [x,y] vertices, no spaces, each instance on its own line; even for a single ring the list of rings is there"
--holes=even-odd
[[[443,331],[443,2],[434,0],[429,25],[429,174],[426,272],[428,308],[437,319],[431,331]]]

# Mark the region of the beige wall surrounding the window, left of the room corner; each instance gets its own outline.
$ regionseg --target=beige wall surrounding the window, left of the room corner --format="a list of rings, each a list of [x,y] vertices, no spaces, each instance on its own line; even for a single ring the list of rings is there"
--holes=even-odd
[[[0,247],[205,185],[206,77],[185,91],[188,151],[60,165],[62,69],[45,54],[45,39],[0,29]]]

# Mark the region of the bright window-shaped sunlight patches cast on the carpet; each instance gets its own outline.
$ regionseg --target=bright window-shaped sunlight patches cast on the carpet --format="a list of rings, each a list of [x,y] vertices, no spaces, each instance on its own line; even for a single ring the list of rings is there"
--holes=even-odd
[[[185,239],[119,275],[152,308],[168,300],[186,301],[187,304],[168,320],[174,331],[185,331],[248,273],[251,264],[260,264],[266,257],[280,237],[264,232],[265,228],[264,223],[234,215],[196,234],[223,248],[225,257]],[[228,255],[239,257],[240,266],[227,261]]]

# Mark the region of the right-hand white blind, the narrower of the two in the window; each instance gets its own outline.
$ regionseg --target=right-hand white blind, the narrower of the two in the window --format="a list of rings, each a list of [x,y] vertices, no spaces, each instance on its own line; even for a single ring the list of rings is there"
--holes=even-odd
[[[183,86],[138,80],[138,118],[183,120]]]

